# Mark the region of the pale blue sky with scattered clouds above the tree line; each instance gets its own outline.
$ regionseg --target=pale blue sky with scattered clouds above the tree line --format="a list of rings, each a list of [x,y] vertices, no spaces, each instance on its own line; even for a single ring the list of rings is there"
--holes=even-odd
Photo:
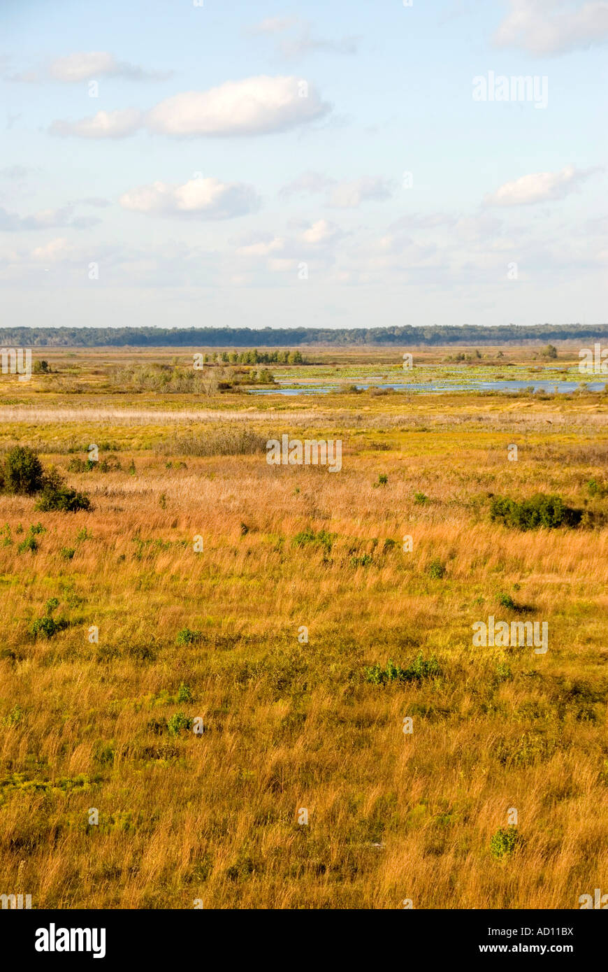
[[[608,0],[1,0],[2,326],[606,322],[607,53]]]

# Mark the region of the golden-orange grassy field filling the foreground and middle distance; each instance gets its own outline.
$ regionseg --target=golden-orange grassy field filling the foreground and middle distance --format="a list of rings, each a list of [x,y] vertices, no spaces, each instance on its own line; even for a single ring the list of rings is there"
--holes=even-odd
[[[0,892],[573,909],[606,890],[605,394],[161,395],[111,375],[173,351],[43,356],[51,374],[0,379],[0,450],[35,448],[93,508],[0,496]],[[340,438],[341,471],[269,466],[282,434]],[[491,520],[536,493],[581,524]],[[474,646],[490,615],[548,622],[547,653]]]

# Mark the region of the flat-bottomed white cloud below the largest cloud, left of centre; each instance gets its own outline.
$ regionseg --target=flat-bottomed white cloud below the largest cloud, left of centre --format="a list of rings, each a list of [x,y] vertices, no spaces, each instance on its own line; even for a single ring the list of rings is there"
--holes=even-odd
[[[259,205],[251,186],[202,178],[190,179],[183,186],[155,182],[124,192],[118,202],[123,209],[137,213],[203,220],[229,220],[252,213]]]

